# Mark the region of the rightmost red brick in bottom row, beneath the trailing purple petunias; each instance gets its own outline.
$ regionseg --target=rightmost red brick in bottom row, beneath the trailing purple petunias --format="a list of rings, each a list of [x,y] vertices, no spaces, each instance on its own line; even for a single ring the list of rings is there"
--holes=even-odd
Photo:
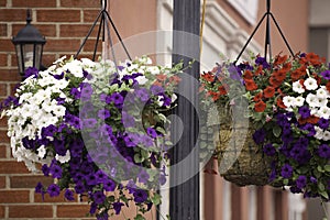
[[[58,205],[57,217],[84,218],[89,211],[88,205]]]

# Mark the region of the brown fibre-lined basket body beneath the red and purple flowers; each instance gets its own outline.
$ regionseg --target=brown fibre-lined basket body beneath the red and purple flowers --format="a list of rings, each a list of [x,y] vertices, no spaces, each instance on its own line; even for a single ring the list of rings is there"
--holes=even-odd
[[[211,116],[211,114],[210,114]],[[218,107],[218,132],[213,133],[219,173],[239,186],[268,184],[271,161],[252,139],[255,129],[249,119]]]

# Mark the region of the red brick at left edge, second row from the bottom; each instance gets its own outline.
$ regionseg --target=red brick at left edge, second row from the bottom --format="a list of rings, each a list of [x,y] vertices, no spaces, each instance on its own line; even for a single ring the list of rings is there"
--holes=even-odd
[[[29,201],[29,190],[0,190],[0,204],[24,204]]]

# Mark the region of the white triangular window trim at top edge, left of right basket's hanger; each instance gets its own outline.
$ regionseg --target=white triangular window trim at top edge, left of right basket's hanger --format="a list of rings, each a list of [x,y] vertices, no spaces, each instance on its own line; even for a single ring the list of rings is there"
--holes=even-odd
[[[227,0],[250,24],[255,24],[257,0]]]

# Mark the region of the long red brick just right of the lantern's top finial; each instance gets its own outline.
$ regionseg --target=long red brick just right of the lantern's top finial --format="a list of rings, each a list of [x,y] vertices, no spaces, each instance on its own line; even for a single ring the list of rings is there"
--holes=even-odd
[[[37,22],[80,22],[80,10],[42,10],[36,12]]]

